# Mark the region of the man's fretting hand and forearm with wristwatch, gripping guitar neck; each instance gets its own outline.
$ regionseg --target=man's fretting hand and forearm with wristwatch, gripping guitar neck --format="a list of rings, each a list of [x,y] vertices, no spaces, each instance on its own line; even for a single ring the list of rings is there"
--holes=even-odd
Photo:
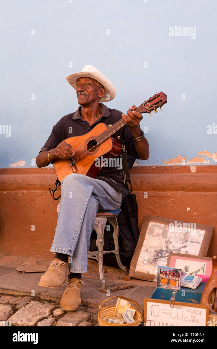
[[[137,138],[142,134],[142,130],[139,126],[139,123],[142,120],[142,115],[137,111],[135,111],[135,109],[136,109],[136,106],[133,105],[132,107],[129,108],[129,110],[127,110],[126,115],[122,114],[122,118],[126,122],[126,124],[129,126],[129,129],[133,135],[133,138]],[[148,160],[149,146],[145,136],[142,138],[141,142],[135,142],[135,150],[138,155],[137,159]]]

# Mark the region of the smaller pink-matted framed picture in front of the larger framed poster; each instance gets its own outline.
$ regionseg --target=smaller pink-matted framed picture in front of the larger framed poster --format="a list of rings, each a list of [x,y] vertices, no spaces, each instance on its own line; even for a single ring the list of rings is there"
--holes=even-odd
[[[198,257],[193,254],[169,253],[166,265],[181,269],[189,275],[211,275],[212,274],[212,258]]]

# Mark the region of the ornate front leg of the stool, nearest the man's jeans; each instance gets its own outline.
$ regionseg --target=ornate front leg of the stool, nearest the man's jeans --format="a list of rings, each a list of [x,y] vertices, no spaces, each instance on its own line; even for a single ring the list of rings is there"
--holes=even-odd
[[[98,247],[98,265],[99,265],[99,274],[100,274],[100,281],[102,287],[106,287],[106,280],[104,278],[104,270],[103,270],[103,246],[104,246],[104,239],[103,239],[103,233],[104,229],[106,228],[106,222],[107,218],[103,217],[96,217],[94,230],[97,235],[96,239],[96,246]]]

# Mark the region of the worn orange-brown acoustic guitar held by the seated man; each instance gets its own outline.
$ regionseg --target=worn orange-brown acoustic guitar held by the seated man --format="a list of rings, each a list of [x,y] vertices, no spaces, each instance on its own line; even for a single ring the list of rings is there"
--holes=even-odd
[[[135,111],[149,113],[167,103],[167,96],[159,92],[153,97],[144,101]],[[162,111],[162,109],[161,109]],[[55,159],[53,162],[57,178],[62,182],[63,178],[71,173],[85,174],[95,178],[102,169],[95,166],[96,158],[114,158],[121,154],[121,144],[114,136],[116,132],[126,125],[123,119],[118,120],[114,125],[108,126],[103,122],[97,124],[90,132],[83,136],[74,136],[65,139],[71,145],[75,155],[70,159]]]

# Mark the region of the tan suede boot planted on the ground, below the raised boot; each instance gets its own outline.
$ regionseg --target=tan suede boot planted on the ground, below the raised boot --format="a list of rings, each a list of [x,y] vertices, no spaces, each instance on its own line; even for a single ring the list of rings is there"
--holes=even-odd
[[[80,294],[82,291],[82,285],[84,281],[81,279],[69,279],[67,288],[62,296],[60,306],[63,310],[77,310],[79,305],[82,303]]]

